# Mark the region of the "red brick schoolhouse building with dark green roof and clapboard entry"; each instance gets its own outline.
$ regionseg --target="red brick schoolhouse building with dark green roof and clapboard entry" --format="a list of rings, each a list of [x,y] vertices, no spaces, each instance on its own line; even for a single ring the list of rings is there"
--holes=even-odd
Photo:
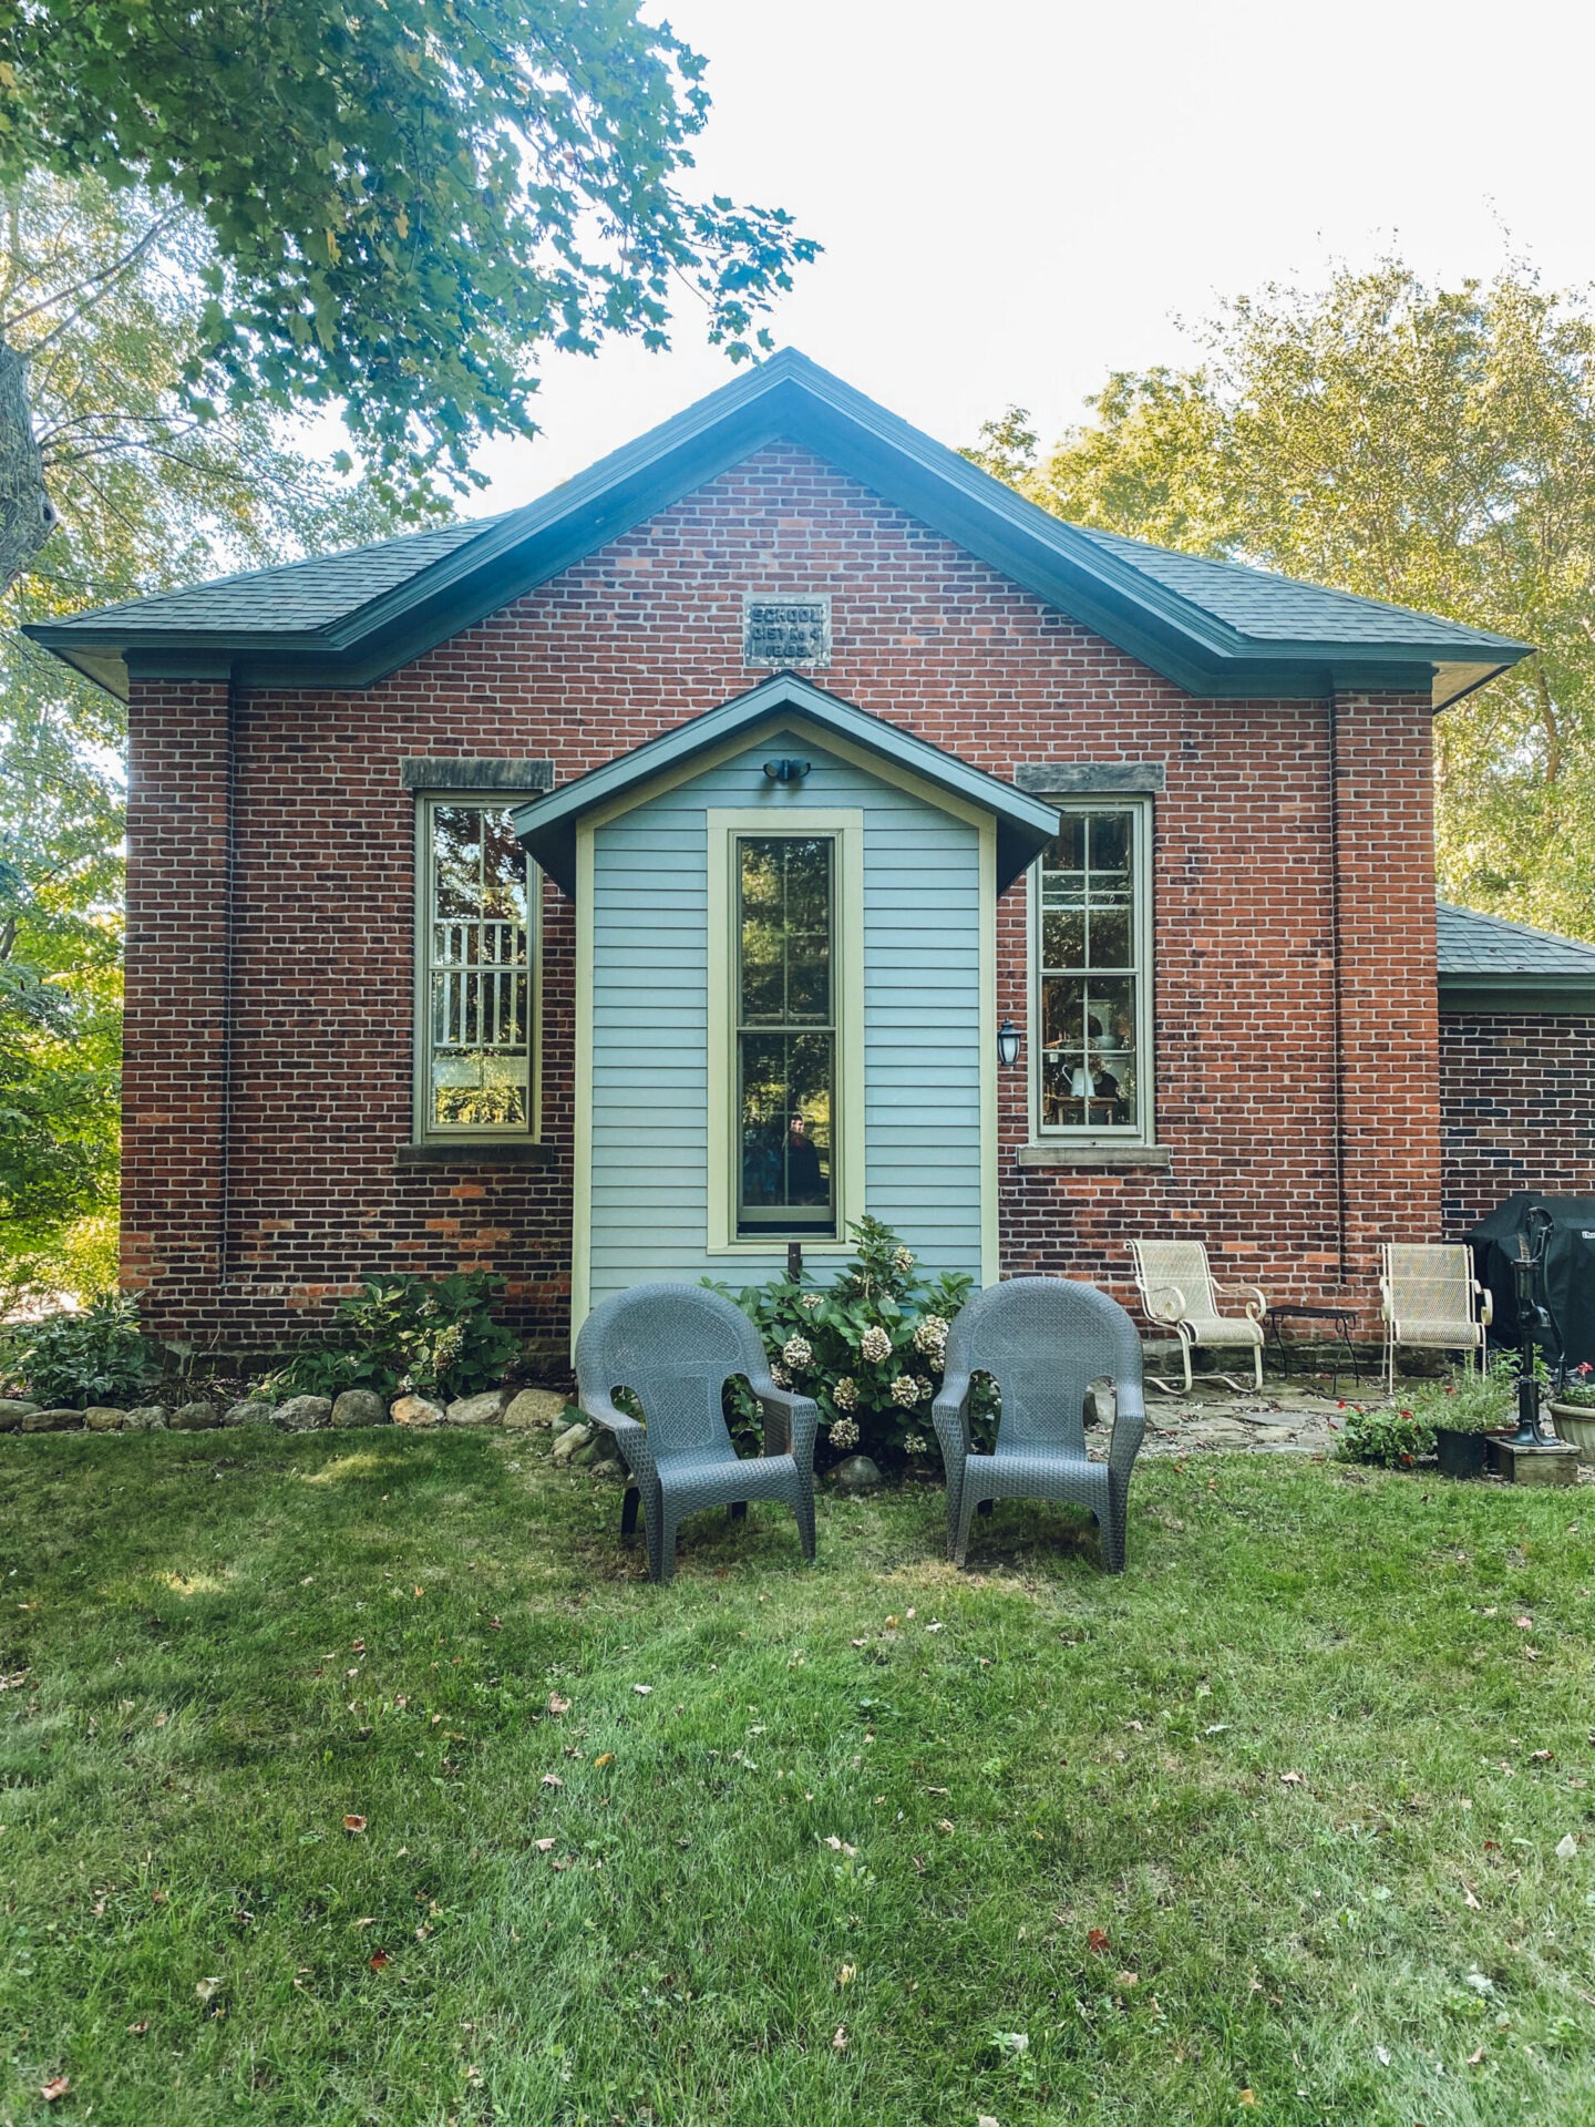
[[[1557,1185],[1546,1104],[1589,1159],[1595,1017],[1442,1027],[1431,719],[1523,644],[1063,525],[800,355],[523,510],[32,632],[130,702],[170,1338],[483,1266],[561,1353],[863,1210],[1372,1312],[1380,1240]]]

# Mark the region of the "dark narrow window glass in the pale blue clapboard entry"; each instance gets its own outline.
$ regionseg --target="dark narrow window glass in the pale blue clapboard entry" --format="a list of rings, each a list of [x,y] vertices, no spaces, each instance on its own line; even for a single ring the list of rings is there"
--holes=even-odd
[[[836,842],[736,838],[740,1234],[836,1234]]]

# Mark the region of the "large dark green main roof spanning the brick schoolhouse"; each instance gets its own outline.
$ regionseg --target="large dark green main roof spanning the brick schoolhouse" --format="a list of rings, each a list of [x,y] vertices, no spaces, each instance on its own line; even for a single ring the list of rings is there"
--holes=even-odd
[[[366,687],[776,440],[827,459],[1189,693],[1323,700],[1361,687],[1423,691],[1442,708],[1527,655],[1457,621],[1061,523],[793,349],[504,517],[28,634],[117,691],[130,670]]]

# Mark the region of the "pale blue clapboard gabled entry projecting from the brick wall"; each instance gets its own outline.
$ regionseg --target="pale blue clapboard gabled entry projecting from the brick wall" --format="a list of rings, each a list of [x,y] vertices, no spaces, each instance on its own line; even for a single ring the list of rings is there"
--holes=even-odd
[[[997,1276],[995,902],[1051,806],[778,674],[515,823],[576,902],[574,1327],[866,1208]]]

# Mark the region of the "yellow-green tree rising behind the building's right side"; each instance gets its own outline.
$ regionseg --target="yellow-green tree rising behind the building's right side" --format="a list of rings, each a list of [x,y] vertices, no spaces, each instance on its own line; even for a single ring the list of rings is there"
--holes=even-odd
[[[1440,883],[1595,938],[1591,296],[1393,259],[1227,302],[1199,342],[1046,453],[1010,408],[970,455],[1059,517],[1538,644],[1438,719]]]

